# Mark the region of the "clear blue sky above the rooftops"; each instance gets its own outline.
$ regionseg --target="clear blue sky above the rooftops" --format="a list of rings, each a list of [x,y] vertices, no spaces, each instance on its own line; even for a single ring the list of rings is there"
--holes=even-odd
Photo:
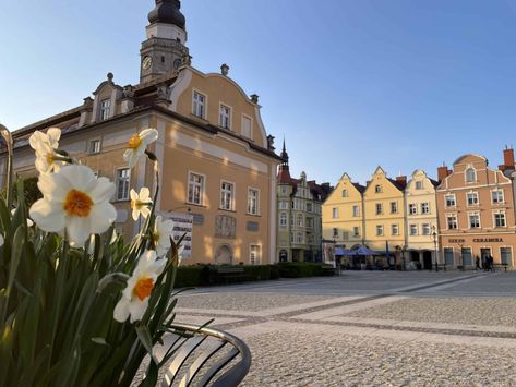
[[[0,121],[139,81],[152,0],[0,2]],[[193,65],[260,95],[292,176],[364,183],[516,143],[516,1],[183,0]]]

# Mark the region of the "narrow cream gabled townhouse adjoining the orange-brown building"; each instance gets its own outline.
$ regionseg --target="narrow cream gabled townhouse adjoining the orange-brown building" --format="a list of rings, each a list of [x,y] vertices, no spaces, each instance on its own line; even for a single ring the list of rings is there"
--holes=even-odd
[[[407,243],[403,250],[406,259],[423,269],[435,267],[439,256],[437,185],[435,180],[418,169],[405,189]]]

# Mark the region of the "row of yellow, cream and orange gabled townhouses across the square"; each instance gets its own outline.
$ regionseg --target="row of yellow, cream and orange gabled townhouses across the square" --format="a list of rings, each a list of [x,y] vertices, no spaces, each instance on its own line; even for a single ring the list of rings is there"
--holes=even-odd
[[[365,185],[345,173],[323,204],[323,239],[345,249],[367,245],[397,263],[470,267],[488,256],[514,265],[516,246],[514,150],[489,168],[485,157],[468,154],[453,168],[389,179],[379,167]]]

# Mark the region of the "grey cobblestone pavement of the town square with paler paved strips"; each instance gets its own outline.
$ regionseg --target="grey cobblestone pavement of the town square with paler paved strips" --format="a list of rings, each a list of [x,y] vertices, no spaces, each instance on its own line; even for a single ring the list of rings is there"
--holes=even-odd
[[[516,274],[353,273],[181,295],[242,338],[243,386],[516,386]]]

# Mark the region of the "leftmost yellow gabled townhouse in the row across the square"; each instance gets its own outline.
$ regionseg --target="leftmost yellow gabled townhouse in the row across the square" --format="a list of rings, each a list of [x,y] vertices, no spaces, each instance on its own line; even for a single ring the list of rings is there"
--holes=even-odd
[[[323,204],[323,239],[352,249],[364,243],[363,191],[344,173]]]

